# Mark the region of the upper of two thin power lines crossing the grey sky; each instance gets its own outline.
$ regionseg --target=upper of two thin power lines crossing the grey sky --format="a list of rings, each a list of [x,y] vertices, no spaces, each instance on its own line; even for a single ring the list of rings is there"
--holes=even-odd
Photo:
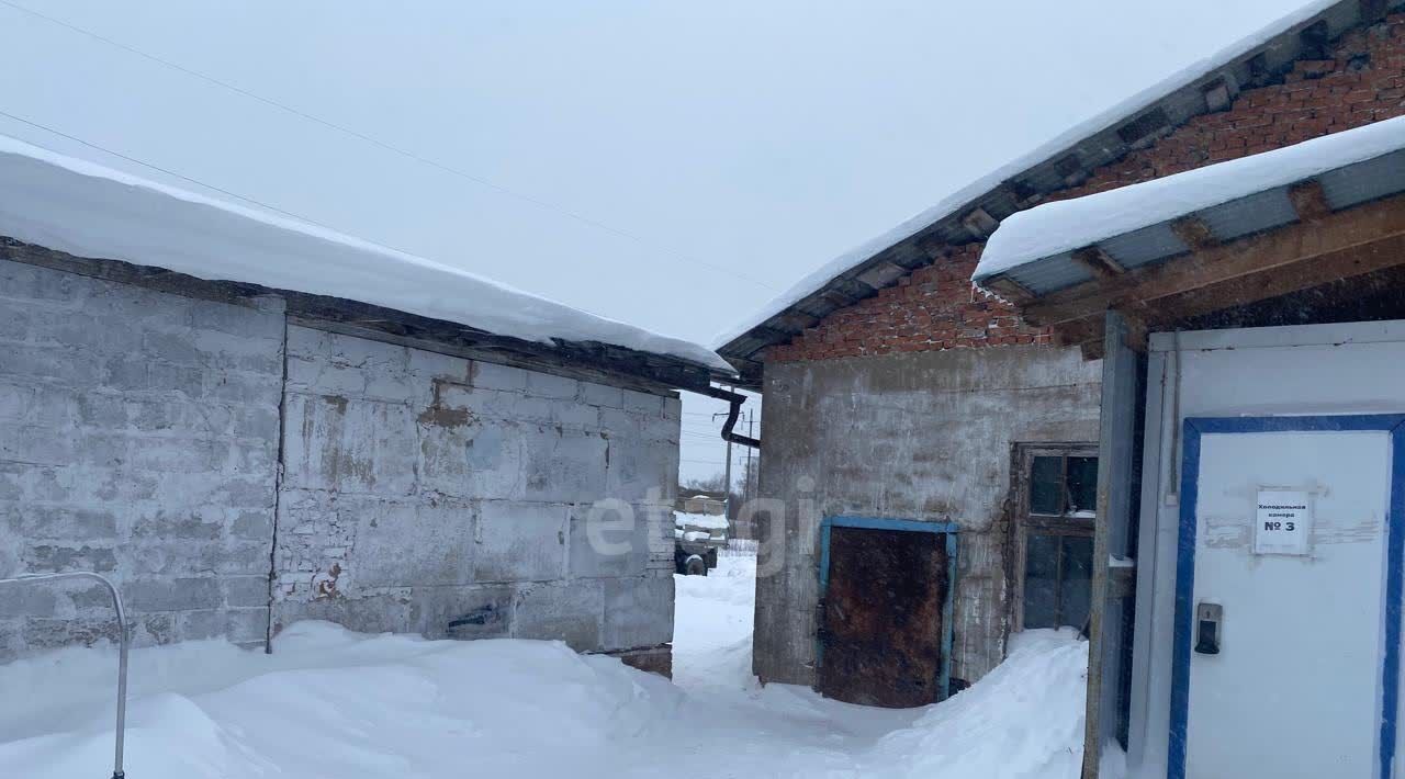
[[[535,205],[537,208],[554,212],[554,213],[556,213],[559,216],[565,216],[568,219],[573,219],[576,222],[580,222],[582,225],[587,225],[587,226],[594,227],[597,230],[604,230],[607,233],[613,233],[615,236],[632,240],[632,241],[635,241],[635,243],[638,243],[639,246],[643,246],[643,247],[649,247],[652,244],[655,248],[663,250],[666,254],[669,254],[674,260],[681,260],[684,262],[690,262],[690,264],[695,264],[695,265],[702,265],[702,267],[707,267],[707,268],[712,268],[714,271],[721,271],[721,272],[729,274],[729,275],[732,275],[735,278],[740,278],[743,281],[749,281],[749,282],[752,282],[752,284],[754,284],[757,286],[763,286],[763,288],[770,289],[773,292],[778,292],[774,286],[771,286],[771,285],[769,285],[769,284],[766,284],[766,282],[763,282],[760,279],[752,278],[752,277],[749,277],[746,274],[738,272],[738,271],[735,271],[732,268],[726,268],[726,267],[718,265],[715,262],[708,262],[707,260],[700,260],[697,257],[693,257],[693,255],[688,255],[688,254],[683,254],[681,251],[677,251],[677,250],[666,247],[666,246],[653,244],[653,241],[649,241],[649,240],[646,240],[646,239],[643,239],[643,237],[641,237],[641,236],[638,236],[638,234],[635,234],[635,233],[632,233],[629,230],[624,230],[621,227],[614,227],[611,225],[600,222],[599,219],[592,219],[592,218],[589,218],[589,216],[586,216],[583,213],[579,213],[579,212],[572,211],[569,208],[565,208],[562,205],[554,204],[551,201],[545,201],[545,199],[541,199],[538,197],[534,197],[534,195],[530,195],[530,194],[525,194],[525,192],[518,192],[518,191],[511,189],[509,187],[503,187],[502,184],[497,184],[495,181],[489,181],[488,178],[483,178],[481,175],[475,175],[472,173],[459,170],[457,167],[452,167],[450,164],[441,163],[441,161],[434,160],[431,157],[426,157],[423,154],[417,154],[414,152],[410,152],[409,149],[403,149],[403,147],[396,146],[393,143],[388,143],[385,140],[381,140],[379,138],[375,138],[372,135],[364,133],[361,131],[351,129],[351,128],[348,128],[346,125],[340,125],[340,124],[333,122],[330,119],[323,119],[322,116],[318,116],[316,114],[309,114],[308,111],[303,111],[301,108],[295,108],[295,107],[288,105],[285,102],[280,102],[277,100],[264,97],[264,95],[261,95],[259,93],[254,93],[254,91],[246,90],[243,87],[239,87],[236,84],[232,84],[229,81],[216,79],[216,77],[209,76],[207,73],[202,73],[200,70],[194,70],[191,67],[185,67],[184,65],[180,65],[178,62],[173,62],[173,60],[169,60],[169,59],[164,59],[164,58],[160,58],[160,56],[143,52],[142,49],[138,49],[136,46],[131,46],[131,45],[124,44],[121,41],[117,41],[117,39],[108,38],[105,35],[93,32],[91,29],[81,28],[81,27],[79,27],[76,24],[66,22],[66,21],[63,21],[60,18],[51,17],[51,15],[44,14],[41,11],[35,11],[34,8],[28,8],[25,6],[18,4],[18,3],[13,3],[11,0],[0,0],[0,4],[7,6],[10,8],[14,8],[15,11],[20,11],[20,13],[30,14],[31,17],[44,20],[44,21],[46,21],[49,24],[55,24],[55,25],[62,27],[65,29],[69,29],[72,32],[77,32],[80,35],[91,38],[94,41],[107,44],[110,46],[115,46],[115,48],[118,48],[118,49],[121,49],[124,52],[128,52],[131,55],[136,55],[136,56],[139,56],[142,59],[146,59],[149,62],[155,62],[155,63],[162,65],[164,67],[171,67],[171,69],[178,70],[180,73],[184,73],[184,74],[187,74],[187,76],[190,76],[192,79],[200,79],[200,80],[202,80],[205,83],[209,83],[209,84],[218,86],[221,88],[229,90],[229,91],[232,91],[235,94],[239,94],[239,95],[243,95],[243,97],[246,97],[249,100],[254,100],[254,101],[263,102],[264,105],[270,105],[273,108],[277,108],[280,111],[288,112],[288,114],[291,114],[294,116],[298,116],[301,119],[305,119],[305,121],[322,125],[322,126],[325,126],[327,129],[337,131],[337,132],[344,133],[344,135],[347,135],[350,138],[355,138],[358,140],[362,140],[365,143],[377,146],[377,147],[379,147],[382,150],[391,152],[393,154],[399,154],[399,156],[406,157],[409,160],[414,160],[414,161],[417,161],[420,164],[424,164],[424,166],[430,166],[430,167],[433,167],[436,170],[440,170],[443,173],[447,173],[450,175],[457,175],[457,177],[464,178],[466,181],[472,181],[473,184],[478,184],[479,187],[486,187],[486,188],[489,188],[489,189],[492,189],[492,191],[495,191],[495,192],[497,192],[500,195],[516,198],[518,201]],[[25,122],[25,124],[32,124],[32,122]],[[121,157],[122,154],[117,154],[117,156]],[[124,159],[126,159],[126,157],[124,157]],[[145,163],[142,163],[142,164],[145,164]],[[148,166],[148,167],[152,167],[155,170],[160,170],[160,168],[156,168],[156,166]],[[184,177],[181,177],[181,178],[184,178]],[[216,188],[211,187],[211,189],[216,189]],[[240,197],[240,195],[235,195],[235,197]],[[243,198],[243,199],[249,199],[249,198]],[[253,202],[253,201],[250,201],[250,202]],[[271,206],[266,205],[264,208],[271,208]],[[278,209],[275,209],[275,211],[278,211]],[[281,212],[281,213],[287,213],[287,212]],[[299,219],[302,219],[302,218],[299,216]],[[325,225],[322,225],[322,226],[325,226]]]

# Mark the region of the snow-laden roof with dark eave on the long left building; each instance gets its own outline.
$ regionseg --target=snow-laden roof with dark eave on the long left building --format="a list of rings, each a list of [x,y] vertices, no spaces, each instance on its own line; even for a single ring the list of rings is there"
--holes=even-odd
[[[278,293],[291,317],[343,333],[641,389],[732,378],[684,340],[4,136],[0,258],[212,299]]]

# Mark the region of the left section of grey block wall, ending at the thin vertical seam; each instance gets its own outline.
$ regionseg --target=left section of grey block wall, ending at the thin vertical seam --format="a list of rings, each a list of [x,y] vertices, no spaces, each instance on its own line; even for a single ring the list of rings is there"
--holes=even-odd
[[[0,261],[0,577],[96,570],[138,644],[268,625],[281,305]],[[101,588],[0,585],[0,660],[115,636]]]

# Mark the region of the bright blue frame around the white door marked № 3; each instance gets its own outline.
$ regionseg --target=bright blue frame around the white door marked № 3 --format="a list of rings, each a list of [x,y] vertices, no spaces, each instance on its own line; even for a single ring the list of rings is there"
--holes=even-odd
[[[1235,432],[1388,432],[1391,495],[1385,518],[1385,653],[1381,670],[1381,717],[1377,776],[1391,776],[1395,759],[1395,712],[1399,702],[1401,585],[1405,564],[1405,414],[1325,417],[1196,417],[1184,421],[1180,469],[1180,540],[1176,553],[1176,623],[1170,677],[1168,776],[1186,779],[1186,719],[1190,709],[1190,641],[1196,590],[1196,504],[1200,497],[1200,439]]]

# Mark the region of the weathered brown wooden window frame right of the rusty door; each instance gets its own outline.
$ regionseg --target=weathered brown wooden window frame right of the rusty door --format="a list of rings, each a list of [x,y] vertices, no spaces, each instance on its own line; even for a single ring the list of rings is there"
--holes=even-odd
[[[1086,441],[1071,441],[1057,444],[1016,444],[1012,458],[1013,477],[1010,488],[1013,491],[1010,505],[1013,517],[1010,522],[1012,547],[1014,550],[1014,564],[1012,566],[1013,613],[1012,623],[1016,632],[1024,630],[1024,573],[1028,563],[1030,533],[1047,536],[1075,536],[1093,538],[1097,526],[1097,510],[1093,517],[1076,517],[1072,514],[1034,514],[1030,505],[1030,491],[1034,477],[1034,458],[1062,458],[1064,480],[1068,480],[1068,458],[1097,458],[1097,444]],[[1059,553],[1055,581],[1062,588],[1064,554]],[[1055,594],[1055,602],[1058,594]]]

